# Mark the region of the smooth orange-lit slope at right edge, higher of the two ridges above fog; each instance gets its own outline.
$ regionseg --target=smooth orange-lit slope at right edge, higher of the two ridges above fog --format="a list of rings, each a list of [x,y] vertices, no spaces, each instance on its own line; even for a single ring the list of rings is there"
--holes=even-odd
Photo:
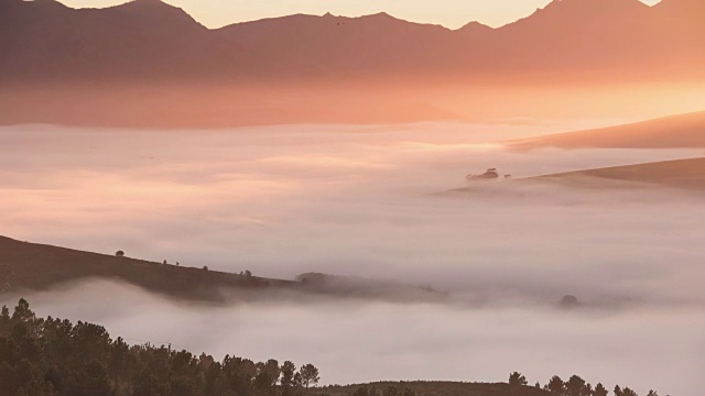
[[[705,147],[705,111],[587,131],[505,142],[519,150],[558,148],[692,148]]]

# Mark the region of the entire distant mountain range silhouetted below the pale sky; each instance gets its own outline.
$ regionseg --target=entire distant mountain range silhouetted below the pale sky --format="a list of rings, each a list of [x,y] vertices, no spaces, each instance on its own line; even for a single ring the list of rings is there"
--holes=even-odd
[[[705,79],[705,2],[554,0],[458,30],[380,13],[296,14],[209,30],[160,0],[72,9],[0,0],[0,79],[257,81]]]

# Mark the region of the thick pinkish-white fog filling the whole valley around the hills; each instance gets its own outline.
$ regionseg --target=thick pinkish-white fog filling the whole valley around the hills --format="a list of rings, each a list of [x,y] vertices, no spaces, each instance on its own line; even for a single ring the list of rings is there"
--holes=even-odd
[[[25,296],[39,315],[98,322],[134,343],[313,362],[325,384],[499,382],[520,371],[532,384],[577,373],[609,388],[695,395],[705,369],[705,196],[508,182],[437,195],[490,167],[519,178],[705,155],[494,143],[598,124],[4,127],[0,234],[260,276],[393,279],[453,296],[205,307],[106,282]],[[578,308],[556,305],[568,294]]]

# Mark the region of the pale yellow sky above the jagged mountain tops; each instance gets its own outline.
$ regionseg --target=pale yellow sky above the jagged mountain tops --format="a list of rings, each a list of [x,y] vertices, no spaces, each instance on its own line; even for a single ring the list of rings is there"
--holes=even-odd
[[[62,0],[70,7],[106,7],[127,0]],[[654,4],[659,0],[642,0]],[[358,16],[388,12],[415,22],[460,28],[470,21],[499,26],[531,14],[551,0],[167,0],[209,28],[293,13]]]

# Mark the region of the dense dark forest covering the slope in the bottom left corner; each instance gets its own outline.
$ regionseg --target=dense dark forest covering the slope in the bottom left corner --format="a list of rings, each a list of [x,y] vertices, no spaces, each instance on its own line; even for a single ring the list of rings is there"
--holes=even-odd
[[[36,318],[24,299],[0,314],[2,396],[296,396],[318,381],[312,364],[130,346],[97,324]]]

